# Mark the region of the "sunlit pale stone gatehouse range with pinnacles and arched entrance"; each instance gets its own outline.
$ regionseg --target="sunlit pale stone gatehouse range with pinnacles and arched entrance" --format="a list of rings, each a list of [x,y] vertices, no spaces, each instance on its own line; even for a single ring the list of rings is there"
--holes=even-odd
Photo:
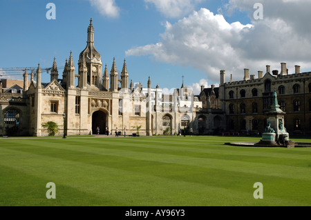
[[[110,74],[106,65],[102,75],[102,57],[95,50],[92,19],[87,33],[78,70],[70,52],[62,79],[54,59],[50,83],[41,83],[40,65],[36,81],[33,73],[28,81],[25,71],[22,91],[20,85],[4,92],[4,81],[0,83],[0,134],[46,136],[48,132],[42,125],[48,121],[57,123],[59,134],[66,132],[66,135],[95,134],[97,127],[101,134],[106,127],[112,134],[117,128],[119,131],[126,128],[126,134],[133,134],[137,132],[135,127],[141,127],[140,135],[163,134],[167,128],[175,134],[180,128],[193,126],[196,112],[202,106],[191,91],[180,88],[166,100],[158,86],[151,88],[150,77],[147,88],[142,88],[141,83],[134,87],[132,81],[129,86],[125,60],[120,77],[115,59]],[[16,89],[20,92],[15,92]]]

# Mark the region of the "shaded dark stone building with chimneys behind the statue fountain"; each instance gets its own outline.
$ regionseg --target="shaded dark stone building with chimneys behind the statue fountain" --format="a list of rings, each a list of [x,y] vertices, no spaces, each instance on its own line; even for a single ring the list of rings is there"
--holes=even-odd
[[[261,133],[266,126],[266,113],[272,104],[274,90],[279,106],[285,114],[285,128],[290,134],[310,134],[311,130],[311,72],[288,74],[286,63],[281,72],[266,66],[266,73],[258,71],[258,78],[244,70],[243,81],[225,83],[225,70],[220,71],[220,102],[226,115],[228,132]]]

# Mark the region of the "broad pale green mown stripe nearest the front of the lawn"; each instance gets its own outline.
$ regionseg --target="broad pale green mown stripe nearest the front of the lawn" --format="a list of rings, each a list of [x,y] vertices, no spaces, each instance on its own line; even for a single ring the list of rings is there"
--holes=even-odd
[[[2,150],[1,154],[3,155],[3,153],[6,153],[7,160],[15,160],[14,164],[10,164],[10,168],[36,177],[52,179],[56,184],[78,188],[86,193],[96,194],[97,197],[108,197],[125,206],[133,206],[133,204],[138,206],[208,206],[211,204],[226,206],[228,203],[224,201],[229,201],[231,206],[242,204],[253,206],[263,204],[306,205],[304,202],[292,200],[291,197],[286,199],[267,196],[268,199],[264,203],[255,201],[252,198],[254,189],[251,187],[246,189],[247,192],[239,192],[229,186],[227,188],[213,187],[203,183],[152,177],[150,174],[124,172],[102,166],[89,164],[86,166],[81,162],[38,156],[16,150]],[[8,166],[6,161],[1,160],[0,163],[2,166]],[[43,164],[45,166],[42,166]],[[53,166],[55,164],[57,166]],[[232,203],[232,201],[234,202]]]

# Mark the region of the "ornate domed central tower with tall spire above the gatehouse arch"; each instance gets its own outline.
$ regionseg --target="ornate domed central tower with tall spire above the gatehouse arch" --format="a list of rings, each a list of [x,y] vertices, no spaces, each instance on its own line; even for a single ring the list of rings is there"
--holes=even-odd
[[[86,61],[86,83],[87,86],[100,87],[102,81],[102,58],[99,52],[94,46],[94,28],[93,20],[91,19],[90,25],[88,26],[88,41],[86,41],[86,48],[79,55],[79,70],[83,68],[83,59]],[[79,72],[80,76],[82,75]]]

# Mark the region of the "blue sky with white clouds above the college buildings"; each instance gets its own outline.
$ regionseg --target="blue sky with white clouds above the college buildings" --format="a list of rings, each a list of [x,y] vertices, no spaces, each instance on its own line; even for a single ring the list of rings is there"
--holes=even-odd
[[[55,19],[46,18],[48,3]],[[0,76],[21,77],[1,68],[49,68],[53,57],[62,75],[70,50],[77,65],[90,18],[102,62],[110,70],[115,57],[120,71],[126,59],[130,79],[143,86],[150,76],[153,87],[180,88],[184,76],[197,93],[217,85],[220,70],[237,81],[244,68],[257,77],[282,62],[290,73],[295,65],[309,72],[310,8],[311,0],[1,1]]]

